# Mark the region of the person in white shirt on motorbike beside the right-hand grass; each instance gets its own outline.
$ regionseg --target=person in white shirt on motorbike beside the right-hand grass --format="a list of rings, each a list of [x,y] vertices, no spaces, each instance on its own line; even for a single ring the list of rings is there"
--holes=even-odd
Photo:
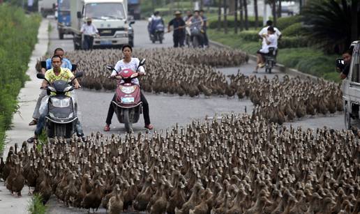
[[[276,36],[273,26],[267,28],[267,34],[264,34],[262,38],[264,38],[265,43],[263,43],[262,48],[257,51],[257,65],[254,72],[257,72],[259,68],[265,66],[264,55],[269,54],[269,47],[278,49],[278,36]]]

